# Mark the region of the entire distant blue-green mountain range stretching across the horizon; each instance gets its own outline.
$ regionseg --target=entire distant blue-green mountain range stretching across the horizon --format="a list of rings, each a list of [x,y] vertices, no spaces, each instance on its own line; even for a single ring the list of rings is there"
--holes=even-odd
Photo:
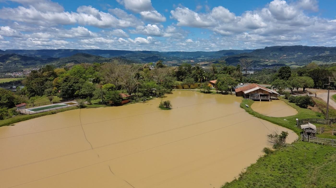
[[[0,72],[11,72],[45,64],[55,66],[78,63],[111,62],[149,63],[163,60],[176,66],[181,63],[196,64],[225,60],[237,65],[240,58],[251,58],[255,68],[273,66],[298,67],[310,62],[336,63],[336,47],[324,46],[271,46],[257,50],[221,50],[216,52],[158,52],[126,50],[0,50]]]

